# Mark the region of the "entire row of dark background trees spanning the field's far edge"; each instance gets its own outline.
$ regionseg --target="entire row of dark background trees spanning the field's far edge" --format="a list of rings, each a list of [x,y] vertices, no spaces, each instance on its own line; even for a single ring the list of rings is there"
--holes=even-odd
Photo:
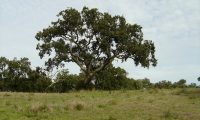
[[[31,68],[28,58],[9,60],[0,57],[0,91],[16,92],[67,92],[80,89],[96,90],[139,90],[148,88],[185,88],[198,87],[196,83],[186,84],[186,80],[178,82],[162,80],[151,83],[148,78],[135,80],[127,77],[127,72],[110,64],[105,70],[98,72],[90,84],[83,84],[84,72],[79,75],[70,74],[67,69],[58,72],[54,80],[40,67]],[[199,80],[199,78],[198,78]]]

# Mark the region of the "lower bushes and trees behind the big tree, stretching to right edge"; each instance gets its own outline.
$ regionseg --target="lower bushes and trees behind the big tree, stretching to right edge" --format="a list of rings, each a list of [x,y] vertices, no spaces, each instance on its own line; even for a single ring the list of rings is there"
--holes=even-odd
[[[69,74],[68,70],[62,70],[57,74],[56,81],[49,88],[51,91],[65,92],[69,90],[79,90],[84,88],[82,85],[83,73],[79,75]],[[157,83],[151,83],[150,79],[133,79],[127,77],[127,72],[120,68],[109,65],[107,69],[99,72],[87,88],[96,90],[139,90],[149,88],[172,89],[172,88],[196,88],[196,83],[186,84],[186,80],[180,79],[177,82],[162,80]]]

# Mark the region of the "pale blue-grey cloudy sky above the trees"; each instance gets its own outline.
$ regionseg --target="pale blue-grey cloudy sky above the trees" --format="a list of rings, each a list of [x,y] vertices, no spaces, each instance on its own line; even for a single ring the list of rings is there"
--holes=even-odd
[[[128,23],[143,27],[144,39],[154,42],[156,67],[114,61],[129,77],[200,84],[200,0],[0,0],[0,56],[28,57],[32,67],[44,66],[36,51],[36,33],[55,21],[59,11],[69,7],[80,11],[84,6],[123,15]],[[74,63],[66,68],[80,72]]]

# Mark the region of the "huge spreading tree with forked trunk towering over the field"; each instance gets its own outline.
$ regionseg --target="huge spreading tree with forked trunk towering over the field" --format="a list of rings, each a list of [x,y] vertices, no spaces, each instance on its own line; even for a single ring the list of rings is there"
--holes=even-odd
[[[87,7],[81,12],[68,8],[57,16],[57,21],[35,36],[39,56],[49,56],[47,70],[74,62],[84,72],[87,85],[115,58],[132,59],[136,66],[147,68],[157,64],[154,43],[143,39],[140,25],[127,23],[123,16]]]

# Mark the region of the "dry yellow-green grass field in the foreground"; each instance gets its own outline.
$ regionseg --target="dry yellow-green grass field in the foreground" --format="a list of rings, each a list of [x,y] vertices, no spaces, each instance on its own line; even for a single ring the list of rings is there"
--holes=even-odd
[[[200,119],[200,89],[0,93],[0,120],[174,119]]]

